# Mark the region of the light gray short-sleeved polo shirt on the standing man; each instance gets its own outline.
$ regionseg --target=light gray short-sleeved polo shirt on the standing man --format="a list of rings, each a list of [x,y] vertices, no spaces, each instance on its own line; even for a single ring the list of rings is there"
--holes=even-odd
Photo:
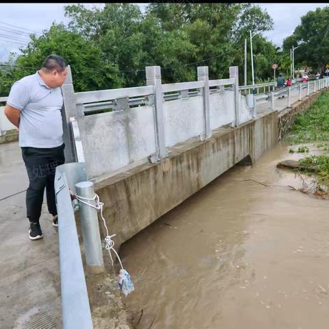
[[[49,88],[38,72],[12,85],[8,105],[21,110],[19,146],[51,148],[62,145],[60,87]]]

